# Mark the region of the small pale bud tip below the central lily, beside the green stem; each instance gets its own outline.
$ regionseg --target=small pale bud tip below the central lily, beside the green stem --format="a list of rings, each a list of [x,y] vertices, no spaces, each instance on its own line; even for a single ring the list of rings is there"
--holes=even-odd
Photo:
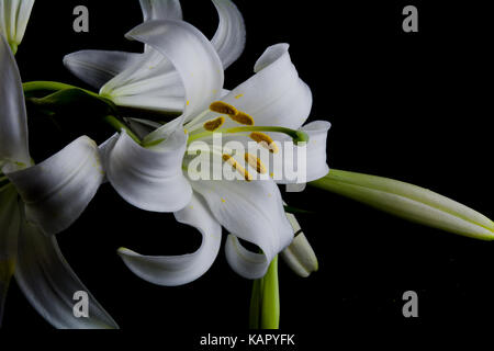
[[[287,217],[295,233],[295,238],[292,244],[281,252],[281,257],[296,275],[307,278],[312,272],[316,272],[319,268],[317,257],[303,234],[295,216],[287,214]]]

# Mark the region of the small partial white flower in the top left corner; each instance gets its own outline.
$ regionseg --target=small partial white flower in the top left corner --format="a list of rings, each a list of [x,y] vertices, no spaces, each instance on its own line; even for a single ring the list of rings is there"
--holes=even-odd
[[[33,5],[34,0],[0,0],[0,34],[14,55],[24,37]]]

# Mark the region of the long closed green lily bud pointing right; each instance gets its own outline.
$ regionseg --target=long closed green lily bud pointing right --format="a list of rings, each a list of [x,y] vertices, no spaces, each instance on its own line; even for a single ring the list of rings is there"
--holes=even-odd
[[[491,219],[420,186],[336,169],[310,184],[426,226],[475,239],[494,239],[494,223]]]

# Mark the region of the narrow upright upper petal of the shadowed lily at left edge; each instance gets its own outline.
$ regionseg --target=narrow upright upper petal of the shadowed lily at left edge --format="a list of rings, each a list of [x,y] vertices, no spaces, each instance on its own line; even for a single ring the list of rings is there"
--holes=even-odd
[[[5,5],[2,1],[0,5]],[[31,165],[27,143],[27,120],[21,76],[15,58],[0,35],[0,163],[18,167]]]

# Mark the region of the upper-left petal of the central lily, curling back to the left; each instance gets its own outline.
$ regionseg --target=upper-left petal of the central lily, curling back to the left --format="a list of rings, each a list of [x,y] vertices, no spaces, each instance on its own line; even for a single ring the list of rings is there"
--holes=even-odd
[[[126,36],[148,44],[172,64],[186,92],[183,121],[207,110],[211,101],[221,94],[224,81],[221,59],[194,26],[179,21],[149,21]],[[160,138],[159,134],[158,129],[145,141]]]

